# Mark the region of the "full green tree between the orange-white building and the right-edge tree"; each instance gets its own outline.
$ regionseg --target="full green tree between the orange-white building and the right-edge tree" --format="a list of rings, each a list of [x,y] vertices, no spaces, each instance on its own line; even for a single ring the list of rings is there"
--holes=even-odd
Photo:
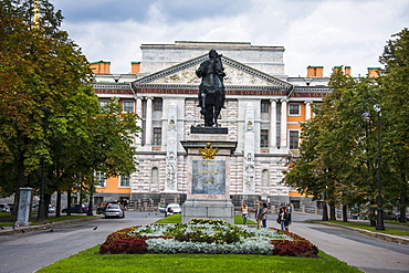
[[[364,164],[360,145],[363,102],[374,87],[370,80],[356,81],[342,70],[333,73],[329,86],[333,93],[315,107],[315,117],[302,125],[301,157],[284,180],[300,192],[328,202],[332,220],[335,206],[343,204],[346,221],[347,206],[365,204],[376,193],[370,186],[376,180]]]

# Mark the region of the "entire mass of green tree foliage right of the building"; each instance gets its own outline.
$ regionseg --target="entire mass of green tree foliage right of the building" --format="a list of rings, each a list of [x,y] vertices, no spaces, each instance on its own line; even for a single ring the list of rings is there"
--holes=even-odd
[[[352,78],[342,70],[333,73],[333,90],[315,117],[303,124],[301,156],[285,172],[284,181],[301,193],[325,199],[329,204],[376,207],[378,127],[381,147],[384,207],[408,206],[409,175],[409,31],[388,41],[380,62],[386,65],[378,78]],[[381,106],[377,118],[374,104]],[[364,112],[374,117],[360,118]],[[381,124],[379,124],[379,122]],[[402,218],[402,221],[405,219]]]

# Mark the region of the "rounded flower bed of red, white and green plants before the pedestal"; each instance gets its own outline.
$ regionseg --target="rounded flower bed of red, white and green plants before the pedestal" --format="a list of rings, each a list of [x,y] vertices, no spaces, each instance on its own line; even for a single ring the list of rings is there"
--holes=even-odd
[[[192,219],[185,224],[149,224],[112,233],[101,253],[203,253],[316,256],[311,242],[273,228],[237,227],[221,220]]]

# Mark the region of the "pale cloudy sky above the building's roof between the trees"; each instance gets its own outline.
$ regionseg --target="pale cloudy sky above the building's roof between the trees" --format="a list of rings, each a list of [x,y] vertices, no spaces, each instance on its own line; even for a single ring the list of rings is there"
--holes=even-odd
[[[250,42],[284,46],[285,74],[338,65],[365,76],[387,41],[409,27],[408,0],[49,0],[88,62],[127,74],[141,44]]]

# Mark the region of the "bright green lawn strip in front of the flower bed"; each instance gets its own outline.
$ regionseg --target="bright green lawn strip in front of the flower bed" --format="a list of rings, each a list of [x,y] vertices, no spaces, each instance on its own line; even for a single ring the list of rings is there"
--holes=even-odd
[[[361,272],[339,260],[319,252],[314,258],[290,258],[238,254],[98,254],[99,245],[57,261],[42,270],[64,273],[122,273],[122,272]]]

